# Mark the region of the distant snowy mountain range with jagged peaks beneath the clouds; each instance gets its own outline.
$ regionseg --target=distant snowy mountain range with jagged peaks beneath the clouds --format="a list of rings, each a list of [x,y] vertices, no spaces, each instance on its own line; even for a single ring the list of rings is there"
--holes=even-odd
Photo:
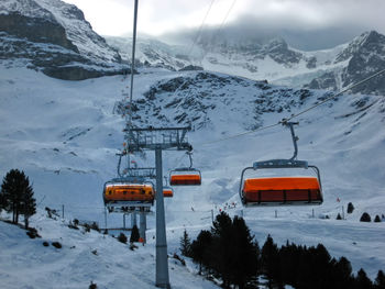
[[[240,36],[241,37],[241,36]],[[206,70],[219,71],[250,79],[289,87],[339,90],[385,68],[385,42],[375,31],[363,33],[351,43],[331,49],[302,52],[289,47],[285,40],[204,38],[191,45],[173,46],[153,40],[141,40],[138,59],[155,67],[178,70],[183,65],[197,65]],[[131,55],[130,40],[107,37],[109,44]],[[194,52],[194,53],[190,53]],[[384,93],[384,76],[371,87],[353,92]]]

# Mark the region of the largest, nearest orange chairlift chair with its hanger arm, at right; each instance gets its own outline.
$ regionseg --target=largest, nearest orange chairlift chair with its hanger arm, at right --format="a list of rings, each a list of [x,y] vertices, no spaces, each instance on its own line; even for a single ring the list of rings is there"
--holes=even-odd
[[[289,159],[270,159],[255,162],[252,167],[242,170],[240,184],[240,197],[243,205],[294,205],[294,204],[321,204],[323,201],[320,171],[318,167],[308,165],[306,160],[296,160],[298,137],[294,133],[294,122],[283,121],[283,125],[289,126],[294,144],[294,155]],[[316,177],[260,177],[246,178],[246,170],[279,168],[312,168]]]

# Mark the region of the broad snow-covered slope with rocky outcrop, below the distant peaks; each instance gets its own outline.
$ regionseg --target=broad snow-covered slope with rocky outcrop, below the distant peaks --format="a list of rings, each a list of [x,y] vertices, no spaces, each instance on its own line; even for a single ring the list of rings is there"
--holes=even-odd
[[[6,288],[85,288],[94,280],[98,288],[155,288],[155,214],[147,219],[148,244],[135,252],[111,236],[81,234],[61,220],[43,216],[45,207],[61,210],[64,205],[66,220],[105,225],[102,186],[117,175],[116,154],[124,142],[121,100],[128,97],[129,79],[110,76],[66,81],[26,69],[22,62],[6,67],[3,60],[0,173],[4,176],[19,168],[30,177],[38,204],[31,225],[41,229],[42,238],[30,240],[20,229],[0,222],[1,284]],[[384,270],[384,220],[359,222],[363,212],[372,220],[385,214],[383,96],[344,95],[296,120],[298,159],[321,170],[324,202],[319,207],[241,207],[241,170],[255,160],[292,157],[287,129],[279,125],[217,142],[274,124],[328,96],[321,90],[290,89],[218,73],[140,70],[134,82],[134,124],[182,126],[191,121],[188,140],[194,146],[194,166],[202,173],[201,187],[176,188],[174,198],[165,200],[169,254],[178,251],[184,229],[196,237],[210,227],[211,210],[215,214],[226,210],[231,216],[243,214],[260,245],[267,234],[278,245],[287,240],[322,243],[333,257],[345,256],[354,273],[362,267],[374,279],[378,269]],[[183,152],[163,156],[164,175],[188,165]],[[152,152],[133,159],[140,166],[154,165]],[[258,176],[274,174],[293,173]],[[346,220],[336,220],[348,202],[354,204],[354,212],[345,213]],[[121,225],[121,214],[108,215],[108,226]],[[59,241],[64,247],[44,247],[45,240]],[[172,258],[169,264],[173,288],[215,288],[190,274],[196,273],[194,266],[185,268]]]

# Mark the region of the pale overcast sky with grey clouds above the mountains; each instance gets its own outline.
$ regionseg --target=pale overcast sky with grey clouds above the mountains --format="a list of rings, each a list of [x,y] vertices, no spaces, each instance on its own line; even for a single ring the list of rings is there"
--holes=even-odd
[[[81,9],[101,35],[132,34],[134,0],[64,1]],[[385,0],[139,0],[138,33],[160,36],[199,27],[211,3],[206,26],[220,25],[232,7],[227,25],[284,31],[298,42],[301,35],[339,42],[367,30],[385,34]]]

